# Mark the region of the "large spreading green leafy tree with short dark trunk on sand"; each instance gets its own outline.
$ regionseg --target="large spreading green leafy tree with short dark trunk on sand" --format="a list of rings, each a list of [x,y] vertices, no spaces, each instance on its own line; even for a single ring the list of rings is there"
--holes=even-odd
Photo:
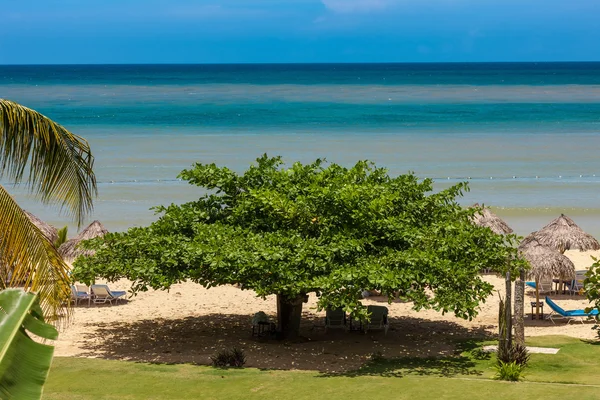
[[[277,295],[279,332],[292,337],[311,292],[320,307],[363,317],[369,289],[471,318],[492,292],[479,271],[517,268],[507,263],[517,257],[514,237],[475,226],[476,209],[457,203],[466,183],[432,193],[429,179],[391,177],[367,161],[285,168],[266,155],[242,175],[196,164],[180,177],[207,194],[159,207],[148,227],[88,243],[97,252],[75,263],[74,276],[125,277],[133,292],[183,280],[241,284]]]

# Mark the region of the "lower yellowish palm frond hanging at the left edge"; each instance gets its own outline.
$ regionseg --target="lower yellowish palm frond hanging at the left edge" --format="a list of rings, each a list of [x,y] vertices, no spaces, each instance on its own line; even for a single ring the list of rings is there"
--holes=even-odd
[[[44,315],[68,316],[68,266],[53,244],[0,186],[0,289],[23,287],[38,294]]]

